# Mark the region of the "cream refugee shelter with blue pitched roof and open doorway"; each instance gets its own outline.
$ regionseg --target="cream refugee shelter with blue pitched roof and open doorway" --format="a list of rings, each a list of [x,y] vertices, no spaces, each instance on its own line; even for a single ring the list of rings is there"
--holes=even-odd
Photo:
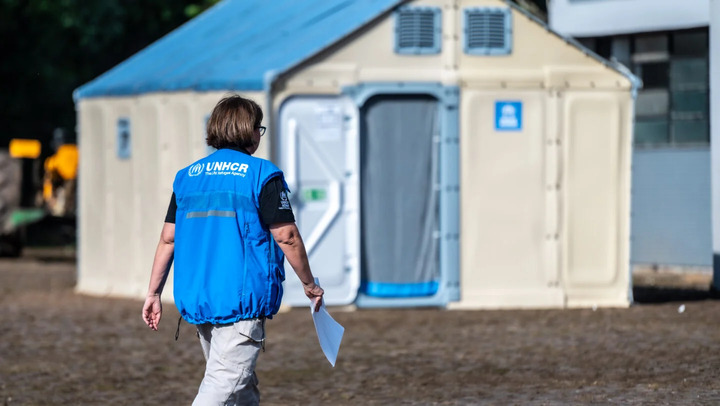
[[[76,91],[78,290],[144,295],[174,174],[238,92],[328,304],[626,306],[638,86],[501,0],[223,1]]]

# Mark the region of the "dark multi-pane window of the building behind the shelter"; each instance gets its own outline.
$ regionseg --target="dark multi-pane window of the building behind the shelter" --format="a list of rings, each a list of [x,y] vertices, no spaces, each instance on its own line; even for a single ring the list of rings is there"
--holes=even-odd
[[[707,28],[587,40],[643,81],[635,102],[635,145],[710,142]],[[607,47],[595,49],[607,41],[609,55],[600,52]]]

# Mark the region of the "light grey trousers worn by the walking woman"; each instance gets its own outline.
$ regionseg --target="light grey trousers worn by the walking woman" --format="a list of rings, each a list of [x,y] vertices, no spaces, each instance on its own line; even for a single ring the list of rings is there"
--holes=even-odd
[[[199,324],[197,330],[206,365],[193,406],[258,405],[255,364],[265,339],[265,319]]]

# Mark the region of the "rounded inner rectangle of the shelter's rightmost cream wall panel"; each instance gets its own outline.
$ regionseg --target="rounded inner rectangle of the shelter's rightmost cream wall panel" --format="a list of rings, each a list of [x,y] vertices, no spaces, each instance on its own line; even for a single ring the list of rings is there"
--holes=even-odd
[[[566,283],[602,286],[617,276],[617,103],[568,102],[568,268]]]

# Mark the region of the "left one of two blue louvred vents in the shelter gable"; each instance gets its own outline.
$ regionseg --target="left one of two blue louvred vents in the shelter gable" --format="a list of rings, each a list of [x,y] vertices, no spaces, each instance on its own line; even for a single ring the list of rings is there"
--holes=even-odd
[[[395,52],[437,54],[441,50],[441,11],[437,7],[401,7],[395,13]]]

